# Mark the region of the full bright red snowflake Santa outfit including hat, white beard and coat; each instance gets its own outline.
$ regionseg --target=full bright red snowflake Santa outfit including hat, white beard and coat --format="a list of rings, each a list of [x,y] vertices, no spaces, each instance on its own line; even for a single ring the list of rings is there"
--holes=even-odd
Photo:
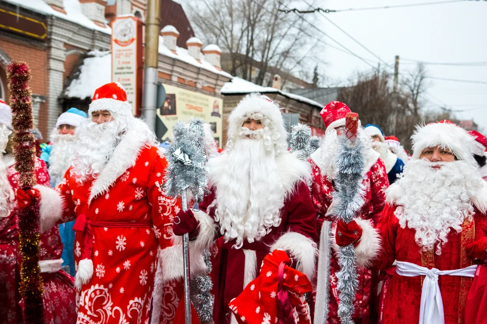
[[[37,187],[41,207],[52,211],[41,213],[41,229],[76,218],[79,323],[146,323],[158,246],[171,246],[179,207],[161,189],[166,161],[149,127],[132,116],[125,89],[98,88],[88,112],[110,120],[82,123],[75,160],[57,190]]]

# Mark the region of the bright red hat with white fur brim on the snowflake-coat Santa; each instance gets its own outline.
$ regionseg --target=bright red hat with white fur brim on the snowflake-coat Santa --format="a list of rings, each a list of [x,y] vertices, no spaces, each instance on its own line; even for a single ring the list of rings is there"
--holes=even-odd
[[[127,101],[127,92],[121,84],[112,82],[95,90],[88,114],[98,110],[108,110],[118,115],[132,114],[132,106]]]

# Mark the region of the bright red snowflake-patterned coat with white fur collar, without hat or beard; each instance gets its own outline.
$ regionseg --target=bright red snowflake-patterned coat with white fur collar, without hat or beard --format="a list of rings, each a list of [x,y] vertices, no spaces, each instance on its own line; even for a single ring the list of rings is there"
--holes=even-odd
[[[161,189],[165,171],[162,153],[145,145],[133,130],[95,180],[81,185],[69,169],[57,187],[65,201],[61,221],[81,216],[75,224],[81,228],[85,217],[91,222],[92,237],[86,235],[83,241],[78,234],[75,242],[77,260],[88,251],[94,269],[82,285],[78,322],[149,320],[157,248],[172,245],[172,220],[180,209]],[[91,238],[89,251],[86,240]],[[81,270],[79,264],[77,276]],[[180,297],[168,302],[177,305]]]

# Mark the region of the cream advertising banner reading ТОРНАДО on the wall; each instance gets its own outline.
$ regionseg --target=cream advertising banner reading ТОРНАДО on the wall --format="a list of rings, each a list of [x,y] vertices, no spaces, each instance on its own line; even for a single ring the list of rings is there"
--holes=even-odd
[[[223,99],[169,85],[164,85],[164,89],[166,100],[157,108],[157,115],[167,128],[167,132],[161,135],[162,140],[172,139],[172,126],[176,121],[188,121],[194,116],[204,119],[205,123],[211,125],[213,137],[218,146],[222,147]]]

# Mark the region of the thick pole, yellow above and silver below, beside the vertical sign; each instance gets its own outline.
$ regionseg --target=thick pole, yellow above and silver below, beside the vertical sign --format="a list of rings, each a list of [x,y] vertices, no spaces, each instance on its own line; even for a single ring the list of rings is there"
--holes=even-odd
[[[157,70],[159,66],[160,0],[147,0],[146,47],[144,51],[144,96],[142,116],[155,130],[157,105]]]

